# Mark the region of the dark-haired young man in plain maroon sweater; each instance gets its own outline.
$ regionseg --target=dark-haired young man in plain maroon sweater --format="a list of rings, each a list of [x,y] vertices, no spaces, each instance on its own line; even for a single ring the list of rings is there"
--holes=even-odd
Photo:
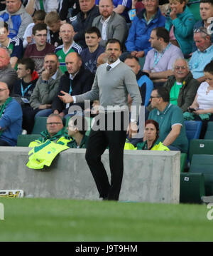
[[[24,53],[24,58],[32,58],[35,62],[35,71],[38,72],[38,76],[42,73],[45,55],[55,51],[55,47],[47,42],[47,32],[46,24],[36,24],[33,26],[33,39],[35,43],[29,44]]]

